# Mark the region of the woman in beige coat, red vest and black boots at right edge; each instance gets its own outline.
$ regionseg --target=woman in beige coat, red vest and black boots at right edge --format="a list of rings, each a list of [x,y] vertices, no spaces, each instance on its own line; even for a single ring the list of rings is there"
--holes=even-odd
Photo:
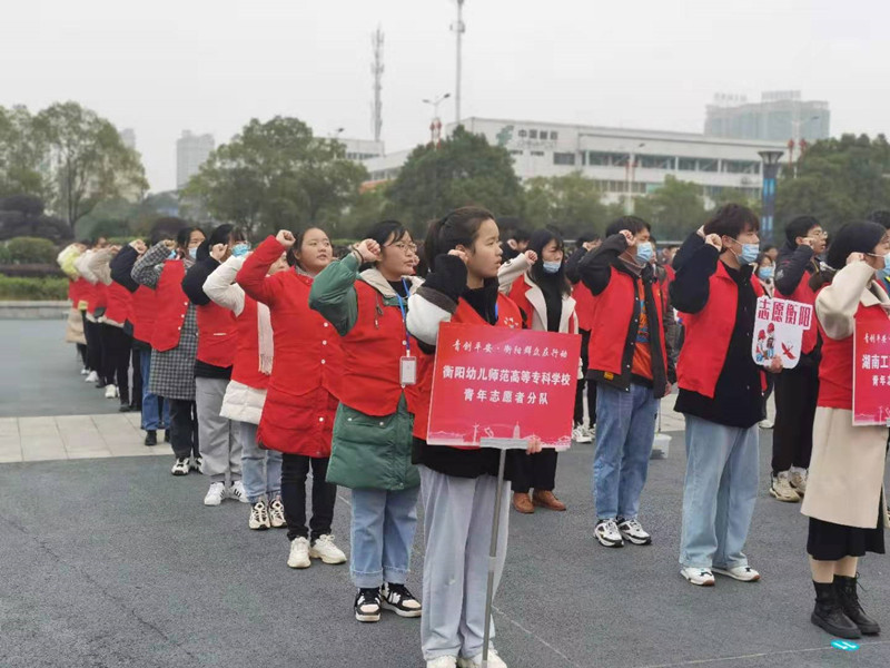
[[[827,262],[833,277],[813,281],[817,287],[824,281],[830,284],[815,297],[822,361],[801,507],[810,518],[807,552],[815,587],[810,619],[832,636],[859,638],[881,630],[859,602],[859,559],[867,552],[884,553],[890,517],[883,490],[887,426],[853,425],[853,367],[863,369],[853,354],[853,336],[861,341],[869,331],[890,332],[890,297],[879,284],[881,272],[890,267],[890,236],[877,223],[844,225]],[[857,373],[873,375],[868,367]]]

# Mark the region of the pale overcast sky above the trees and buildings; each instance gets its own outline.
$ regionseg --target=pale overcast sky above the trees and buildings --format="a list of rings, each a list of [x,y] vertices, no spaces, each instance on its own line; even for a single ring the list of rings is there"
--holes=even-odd
[[[387,150],[428,136],[422,98],[454,92],[454,0],[2,6],[0,105],[72,99],[132,127],[155,191],[175,186],[182,129],[220,144],[288,115],[372,137],[378,24]],[[466,0],[464,14],[464,117],[702,131],[714,92],[800,89],[830,102],[832,135],[890,130],[882,0]]]

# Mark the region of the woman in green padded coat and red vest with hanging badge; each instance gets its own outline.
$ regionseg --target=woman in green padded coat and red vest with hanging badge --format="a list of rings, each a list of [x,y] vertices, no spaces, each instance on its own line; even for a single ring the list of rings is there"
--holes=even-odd
[[[417,363],[405,328],[408,297],[421,284],[412,277],[415,250],[400,223],[384,220],[322,272],[309,295],[343,345],[346,382],[327,480],[353,491],[349,570],[355,617],[365,622],[378,621],[382,608],[400,617],[422,612],[405,586],[421,485],[411,462],[417,385],[404,369],[406,358]],[[370,266],[359,273],[363,264]]]

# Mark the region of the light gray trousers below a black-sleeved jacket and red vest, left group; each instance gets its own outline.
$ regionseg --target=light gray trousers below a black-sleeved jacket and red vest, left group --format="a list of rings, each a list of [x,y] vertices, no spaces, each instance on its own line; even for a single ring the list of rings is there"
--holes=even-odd
[[[241,479],[241,444],[235,426],[221,418],[226,379],[195,379],[195,403],[198,407],[198,442],[201,444],[201,473],[214,482]]]

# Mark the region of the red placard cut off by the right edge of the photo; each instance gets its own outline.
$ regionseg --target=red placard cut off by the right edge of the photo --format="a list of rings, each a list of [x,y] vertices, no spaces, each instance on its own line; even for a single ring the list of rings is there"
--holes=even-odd
[[[890,321],[888,320],[856,325],[853,424],[890,425]]]

